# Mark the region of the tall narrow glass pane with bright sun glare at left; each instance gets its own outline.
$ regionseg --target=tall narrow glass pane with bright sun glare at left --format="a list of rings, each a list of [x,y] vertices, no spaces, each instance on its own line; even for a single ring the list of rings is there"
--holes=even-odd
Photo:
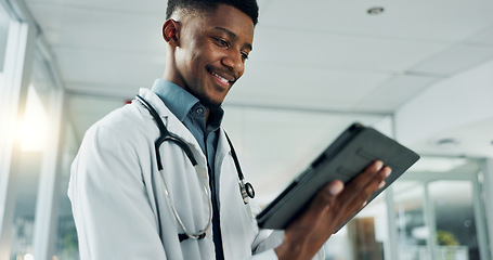
[[[17,194],[11,259],[29,259],[34,255],[40,173],[47,144],[54,142],[48,139],[48,133],[53,130],[49,114],[55,88],[42,57],[36,54],[33,62],[25,115],[17,136],[21,140],[20,164],[13,169],[17,178]]]

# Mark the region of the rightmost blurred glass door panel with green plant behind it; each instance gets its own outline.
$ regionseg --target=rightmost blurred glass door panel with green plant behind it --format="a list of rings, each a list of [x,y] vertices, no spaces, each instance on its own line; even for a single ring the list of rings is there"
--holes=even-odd
[[[480,260],[488,255],[480,246],[488,238],[478,232],[485,226],[478,164],[425,157],[394,183],[399,260]]]

